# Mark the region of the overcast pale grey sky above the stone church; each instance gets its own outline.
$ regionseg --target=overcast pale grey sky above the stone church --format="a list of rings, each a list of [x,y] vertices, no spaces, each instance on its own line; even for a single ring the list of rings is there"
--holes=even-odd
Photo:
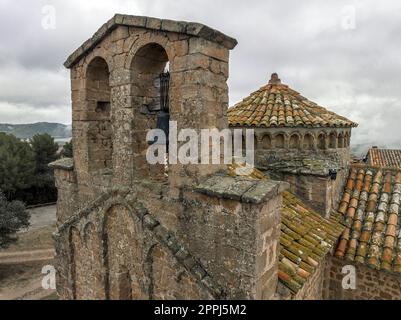
[[[277,72],[358,122],[354,144],[401,148],[399,0],[0,0],[0,122],[71,123],[62,64],[115,13],[201,22],[236,38],[231,104]]]

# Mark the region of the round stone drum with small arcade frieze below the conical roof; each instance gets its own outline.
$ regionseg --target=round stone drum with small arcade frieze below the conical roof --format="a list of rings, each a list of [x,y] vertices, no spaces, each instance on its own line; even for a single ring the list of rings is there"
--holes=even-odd
[[[338,206],[350,161],[349,128],[255,128],[255,165],[323,216]],[[337,171],[332,180],[329,170]]]

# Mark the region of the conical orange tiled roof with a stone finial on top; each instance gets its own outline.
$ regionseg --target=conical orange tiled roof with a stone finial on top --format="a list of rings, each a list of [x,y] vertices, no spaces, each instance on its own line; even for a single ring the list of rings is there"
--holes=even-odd
[[[357,126],[282,84],[276,73],[267,85],[228,109],[228,122],[239,127]]]

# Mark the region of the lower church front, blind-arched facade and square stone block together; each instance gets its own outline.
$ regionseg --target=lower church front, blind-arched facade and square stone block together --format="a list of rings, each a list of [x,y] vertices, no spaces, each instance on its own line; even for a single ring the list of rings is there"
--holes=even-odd
[[[60,298],[272,298],[282,189],[243,180],[238,188],[238,179],[219,179],[237,185],[240,195],[250,185],[269,193],[263,200],[249,193],[243,202],[223,191],[205,194],[206,183],[187,190],[181,202],[171,200],[176,206],[166,212],[169,203],[143,197],[146,185],[138,182],[72,215],[55,236]],[[176,219],[162,219],[173,212]]]

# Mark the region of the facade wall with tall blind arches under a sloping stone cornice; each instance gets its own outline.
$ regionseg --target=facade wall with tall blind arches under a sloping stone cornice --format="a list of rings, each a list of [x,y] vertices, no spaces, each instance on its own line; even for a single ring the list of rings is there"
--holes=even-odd
[[[211,299],[201,281],[209,286],[213,281],[197,260],[146,209],[135,205],[132,193],[104,195],[59,228],[60,298]]]

